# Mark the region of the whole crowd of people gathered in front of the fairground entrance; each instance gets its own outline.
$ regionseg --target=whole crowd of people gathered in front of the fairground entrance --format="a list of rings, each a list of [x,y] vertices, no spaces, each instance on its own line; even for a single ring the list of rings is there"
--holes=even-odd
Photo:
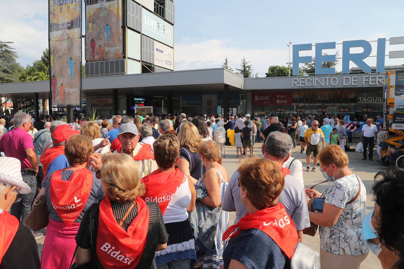
[[[296,116],[41,117],[32,132],[32,117],[16,113],[0,137],[0,268],[289,268],[312,225],[323,268],[359,268],[369,250],[383,268],[402,268],[404,171],[376,175],[375,209],[366,215],[344,121]],[[221,164],[227,129],[237,155],[250,155],[232,175]],[[252,154],[261,142],[263,158]],[[319,161],[332,182],[324,193],[304,187],[296,146],[306,151],[307,172]],[[24,220],[38,214],[41,197],[48,224],[39,257],[43,234]],[[322,198],[323,209],[309,211],[311,198]]]

